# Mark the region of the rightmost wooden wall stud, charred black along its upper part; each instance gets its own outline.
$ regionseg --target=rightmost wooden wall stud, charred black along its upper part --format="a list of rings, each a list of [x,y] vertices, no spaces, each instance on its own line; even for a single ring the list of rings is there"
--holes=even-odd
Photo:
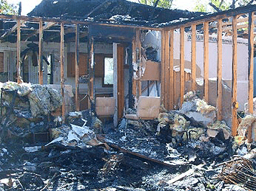
[[[253,52],[254,52],[254,13],[249,13],[249,23],[248,23],[248,30],[249,30],[249,38],[248,38],[248,105],[249,105],[249,114],[253,114]],[[252,142],[252,125],[248,129],[248,142]]]

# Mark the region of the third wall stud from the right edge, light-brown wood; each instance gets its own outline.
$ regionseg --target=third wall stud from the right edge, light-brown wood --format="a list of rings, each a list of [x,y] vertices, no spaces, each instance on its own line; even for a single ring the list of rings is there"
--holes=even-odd
[[[222,119],[222,19],[218,18],[217,56],[217,119]]]

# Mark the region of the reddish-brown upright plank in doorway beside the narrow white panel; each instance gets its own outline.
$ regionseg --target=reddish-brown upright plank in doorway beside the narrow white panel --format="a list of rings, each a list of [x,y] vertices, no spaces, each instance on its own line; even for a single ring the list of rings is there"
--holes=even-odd
[[[118,64],[118,120],[123,117],[124,111],[124,46],[118,44],[117,47]]]

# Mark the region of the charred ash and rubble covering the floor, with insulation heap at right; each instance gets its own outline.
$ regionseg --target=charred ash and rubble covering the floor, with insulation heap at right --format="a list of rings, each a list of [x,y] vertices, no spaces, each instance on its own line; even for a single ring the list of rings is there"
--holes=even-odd
[[[61,125],[55,120],[60,117],[49,119],[58,107],[34,117],[27,108],[28,119],[45,115],[54,123],[47,127],[51,140],[28,143],[10,136],[1,142],[0,190],[256,190],[256,149],[246,141],[256,118],[246,116],[233,138],[226,123],[216,120],[215,107],[193,92],[184,100],[179,111],[161,108],[158,119],[124,118],[116,128],[90,110],[70,112]],[[10,113],[19,119],[15,107]],[[2,128],[7,135],[18,125],[11,119]]]

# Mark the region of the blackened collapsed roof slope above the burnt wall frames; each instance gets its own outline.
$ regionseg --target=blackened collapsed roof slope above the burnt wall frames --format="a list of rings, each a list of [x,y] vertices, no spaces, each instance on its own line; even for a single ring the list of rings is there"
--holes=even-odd
[[[201,14],[187,10],[152,7],[125,0],[43,0],[28,15],[157,27],[158,24],[180,18],[195,18]]]

